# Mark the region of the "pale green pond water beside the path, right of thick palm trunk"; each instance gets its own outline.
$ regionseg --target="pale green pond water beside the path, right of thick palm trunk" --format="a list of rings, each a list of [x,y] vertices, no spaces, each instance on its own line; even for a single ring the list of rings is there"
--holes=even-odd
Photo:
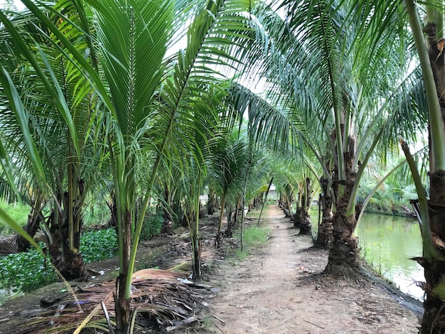
[[[424,271],[411,260],[422,257],[417,220],[366,213],[356,231],[366,262],[404,293],[422,299],[423,291],[415,281],[424,281]]]

